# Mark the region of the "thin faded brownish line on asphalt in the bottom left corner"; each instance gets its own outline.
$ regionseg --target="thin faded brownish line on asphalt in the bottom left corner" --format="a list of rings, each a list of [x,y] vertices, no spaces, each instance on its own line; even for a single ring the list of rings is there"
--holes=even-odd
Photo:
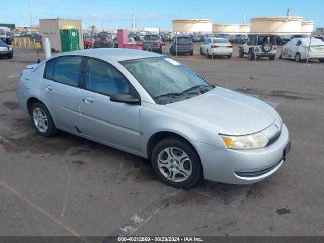
[[[0,181],[0,185],[2,185],[3,187],[5,187],[7,190],[9,190],[10,192],[14,193],[16,196],[18,196],[20,199],[22,199],[23,201],[25,201],[25,203],[27,203],[29,206],[33,207],[34,209],[36,209],[38,212],[42,213],[43,215],[45,215],[46,217],[48,217],[50,220],[52,220],[54,223],[58,224],[59,226],[63,227],[64,229],[66,229],[67,231],[69,231],[71,234],[73,234],[74,236],[76,236],[77,238],[79,238],[80,240],[82,240],[83,242],[89,242],[88,240],[86,240],[84,237],[82,237],[79,233],[77,233],[75,230],[71,229],[70,227],[64,225],[63,223],[61,223],[60,220],[56,219],[53,215],[51,215],[49,212],[45,211],[44,209],[42,209],[41,207],[39,207],[38,205],[34,204],[32,201],[30,201],[29,199],[27,199],[24,195],[22,195],[20,192],[16,191],[15,189],[13,189],[12,187],[10,187],[9,185],[7,185],[6,183]]]

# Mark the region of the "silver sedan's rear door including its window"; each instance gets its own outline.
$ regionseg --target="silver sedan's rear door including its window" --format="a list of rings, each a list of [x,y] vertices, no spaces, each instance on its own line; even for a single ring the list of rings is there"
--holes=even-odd
[[[82,57],[63,56],[46,63],[41,92],[57,128],[82,131],[78,87],[82,62]]]

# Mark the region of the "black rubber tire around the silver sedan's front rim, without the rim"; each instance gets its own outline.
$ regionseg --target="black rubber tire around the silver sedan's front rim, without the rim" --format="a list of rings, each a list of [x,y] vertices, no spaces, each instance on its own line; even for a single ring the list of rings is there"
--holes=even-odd
[[[175,182],[167,179],[160,171],[157,161],[158,161],[158,155],[163,149],[168,148],[168,147],[176,147],[184,151],[188,157],[191,160],[191,175],[189,176],[188,179],[182,182]],[[201,163],[200,163],[200,158],[194,148],[184,139],[177,138],[177,137],[168,137],[160,142],[157,143],[157,145],[153,149],[152,157],[151,157],[151,162],[152,162],[152,167],[157,175],[157,177],[164,182],[165,184],[177,188],[188,188],[196,184],[200,178],[201,178]],[[181,163],[181,161],[180,161]],[[169,170],[169,169],[168,169]],[[173,172],[174,173],[174,172]],[[177,174],[176,174],[177,175]]]

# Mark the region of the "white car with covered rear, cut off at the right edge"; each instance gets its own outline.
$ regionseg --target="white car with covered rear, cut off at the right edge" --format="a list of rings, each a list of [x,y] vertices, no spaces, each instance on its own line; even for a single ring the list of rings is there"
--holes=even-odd
[[[308,59],[318,59],[324,62],[324,42],[316,38],[292,39],[285,44],[279,58],[290,58],[300,62],[307,59],[307,56]]]

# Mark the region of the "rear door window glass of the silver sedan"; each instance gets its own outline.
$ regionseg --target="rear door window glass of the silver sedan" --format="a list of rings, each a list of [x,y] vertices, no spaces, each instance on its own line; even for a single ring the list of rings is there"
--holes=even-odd
[[[77,86],[82,57],[57,58],[53,80],[66,85]]]

